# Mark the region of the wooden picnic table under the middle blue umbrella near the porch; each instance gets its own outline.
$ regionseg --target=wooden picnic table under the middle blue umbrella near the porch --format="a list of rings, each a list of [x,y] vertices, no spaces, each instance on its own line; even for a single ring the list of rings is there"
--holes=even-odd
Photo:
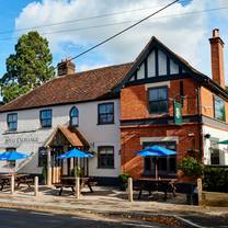
[[[80,190],[84,186],[88,186],[90,192],[93,193],[92,185],[94,185],[95,182],[91,178],[80,178]],[[54,184],[56,189],[60,189],[59,195],[61,195],[64,189],[71,189],[72,193],[75,193],[76,187],[76,178],[75,176],[61,176],[60,183]]]

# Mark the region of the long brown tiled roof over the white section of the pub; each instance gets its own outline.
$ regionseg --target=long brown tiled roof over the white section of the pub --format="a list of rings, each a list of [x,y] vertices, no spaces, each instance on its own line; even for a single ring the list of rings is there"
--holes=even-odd
[[[112,98],[132,62],[55,78],[0,107],[0,112]]]

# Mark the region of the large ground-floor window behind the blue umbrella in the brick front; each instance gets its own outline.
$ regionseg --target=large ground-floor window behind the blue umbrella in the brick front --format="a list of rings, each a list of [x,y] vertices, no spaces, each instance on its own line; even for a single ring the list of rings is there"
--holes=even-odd
[[[176,150],[175,141],[149,141],[144,142],[144,147],[148,146],[161,146],[171,150]],[[155,157],[146,157],[144,160],[145,174],[156,174],[156,159]],[[176,172],[176,156],[166,156],[158,158],[158,174],[159,175],[174,175]]]

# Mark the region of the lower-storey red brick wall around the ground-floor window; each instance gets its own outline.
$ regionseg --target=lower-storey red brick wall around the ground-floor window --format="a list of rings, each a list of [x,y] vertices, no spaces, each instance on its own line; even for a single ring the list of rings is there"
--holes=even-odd
[[[200,156],[201,134],[198,124],[122,127],[122,172],[130,174],[135,179],[144,175],[144,158],[136,156],[136,151],[142,149],[141,137],[176,137],[176,161],[186,157],[187,150],[198,151],[195,156]]]

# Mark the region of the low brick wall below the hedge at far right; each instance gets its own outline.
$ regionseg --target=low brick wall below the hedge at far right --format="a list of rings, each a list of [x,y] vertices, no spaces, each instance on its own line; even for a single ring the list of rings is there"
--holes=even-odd
[[[228,207],[228,193],[203,191],[201,205]]]

